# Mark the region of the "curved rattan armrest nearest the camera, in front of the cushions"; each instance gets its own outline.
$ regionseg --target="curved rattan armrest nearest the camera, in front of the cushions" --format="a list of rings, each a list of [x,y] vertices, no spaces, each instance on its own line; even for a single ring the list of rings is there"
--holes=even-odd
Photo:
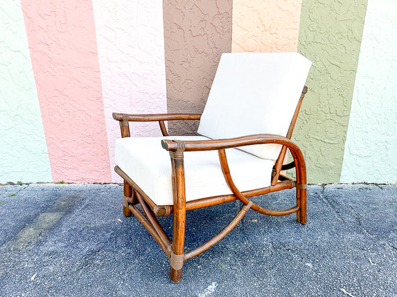
[[[167,151],[177,151],[178,147],[180,149],[178,142],[181,143],[179,140],[161,140],[161,146]],[[274,134],[255,134],[222,140],[193,140],[183,143],[183,151],[211,151],[253,144],[281,144],[294,151],[300,151],[297,144],[294,144],[289,138]]]

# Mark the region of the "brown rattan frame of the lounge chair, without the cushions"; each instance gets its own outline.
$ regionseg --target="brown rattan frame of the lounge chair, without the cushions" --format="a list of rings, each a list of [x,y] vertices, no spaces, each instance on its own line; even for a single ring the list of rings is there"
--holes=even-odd
[[[124,195],[123,195],[123,214],[130,217],[132,214],[138,218],[143,224],[145,229],[153,236],[156,242],[159,244],[161,249],[166,253],[170,260],[170,279],[173,282],[179,282],[182,276],[182,267],[184,261],[199,255],[206,249],[209,249],[215,243],[219,242],[224,236],[227,235],[236,224],[244,217],[244,215],[253,209],[258,213],[265,215],[289,215],[291,213],[297,213],[297,221],[301,224],[306,224],[306,164],[299,147],[290,140],[292,131],[297,117],[303,98],[308,88],[305,86],[299,98],[297,108],[295,109],[294,116],[290,123],[288,133],[286,137],[280,135],[271,134],[257,134],[247,135],[243,137],[236,137],[224,140],[200,140],[200,141],[179,141],[179,140],[162,140],[161,145],[164,149],[170,153],[170,161],[173,172],[173,205],[157,205],[146,195],[137,184],[131,180],[118,166],[115,167],[116,173],[121,175],[124,179]],[[121,137],[130,137],[129,122],[159,122],[161,132],[164,136],[168,136],[166,131],[165,121],[173,121],[179,119],[188,120],[200,120],[200,114],[152,114],[152,115],[128,115],[125,113],[113,113],[113,118],[119,121],[121,128]],[[247,146],[253,144],[281,144],[282,148],[277,158],[273,171],[272,171],[272,182],[270,186],[262,189],[254,189],[251,191],[238,191],[236,185],[233,182],[233,178],[229,172],[229,165],[227,163],[227,157],[225,154],[226,148],[236,148],[238,146]],[[209,198],[202,198],[200,200],[193,200],[186,202],[185,200],[185,182],[184,182],[184,151],[209,151],[217,150],[222,167],[222,173],[224,178],[229,185],[232,193],[231,195],[220,195]],[[293,161],[289,164],[283,165],[283,160],[287,151],[290,151]],[[295,168],[296,180],[292,180],[285,175],[281,174],[281,171]],[[266,193],[272,193],[275,191],[281,191],[284,189],[297,188],[296,199],[297,204],[290,209],[285,210],[270,210],[263,209],[258,204],[249,200],[249,198],[256,195],[263,195]],[[221,204],[233,200],[240,200],[242,207],[237,215],[227,224],[222,231],[205,242],[200,247],[197,247],[191,251],[185,253],[184,251],[184,240],[185,240],[185,218],[186,211],[191,209],[198,209],[201,207],[209,207],[215,204]],[[141,204],[143,213],[139,211],[136,204]],[[157,221],[157,216],[169,215],[173,213],[173,238],[168,238],[164,229]]]

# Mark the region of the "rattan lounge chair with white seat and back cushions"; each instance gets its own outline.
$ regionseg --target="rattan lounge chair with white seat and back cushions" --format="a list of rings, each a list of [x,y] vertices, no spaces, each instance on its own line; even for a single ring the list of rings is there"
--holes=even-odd
[[[123,213],[133,213],[166,253],[173,282],[181,279],[184,261],[224,238],[249,209],[265,215],[297,213],[297,221],[306,224],[306,165],[290,137],[310,66],[296,52],[226,53],[201,115],[113,114],[122,136],[116,141],[115,170],[124,179]],[[200,120],[198,135],[168,136],[164,122],[179,119]],[[129,122],[145,121],[159,122],[164,137],[130,137]],[[288,150],[293,160],[283,165]],[[292,168],[294,180],[281,174]],[[297,204],[283,211],[249,200],[292,188]],[[232,200],[240,200],[242,207],[227,227],[185,251],[186,211]],[[170,239],[156,216],[171,213]]]

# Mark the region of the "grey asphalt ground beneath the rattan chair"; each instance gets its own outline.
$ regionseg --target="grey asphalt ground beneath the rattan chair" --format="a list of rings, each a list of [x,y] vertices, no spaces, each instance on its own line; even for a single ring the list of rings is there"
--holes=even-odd
[[[122,193],[118,184],[0,186],[0,296],[397,296],[397,186],[310,186],[304,226],[249,211],[185,263],[178,284],[157,243],[123,216]],[[294,191],[256,200],[282,209]],[[238,209],[188,212],[186,247]],[[172,215],[160,222],[170,233]]]

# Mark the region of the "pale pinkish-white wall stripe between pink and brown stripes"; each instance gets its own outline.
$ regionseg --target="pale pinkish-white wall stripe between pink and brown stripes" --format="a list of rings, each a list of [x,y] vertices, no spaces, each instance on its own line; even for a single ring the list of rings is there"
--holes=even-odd
[[[166,113],[163,8],[156,1],[94,0],[100,75],[112,180],[118,113]],[[133,136],[161,135],[159,124],[130,124]]]

